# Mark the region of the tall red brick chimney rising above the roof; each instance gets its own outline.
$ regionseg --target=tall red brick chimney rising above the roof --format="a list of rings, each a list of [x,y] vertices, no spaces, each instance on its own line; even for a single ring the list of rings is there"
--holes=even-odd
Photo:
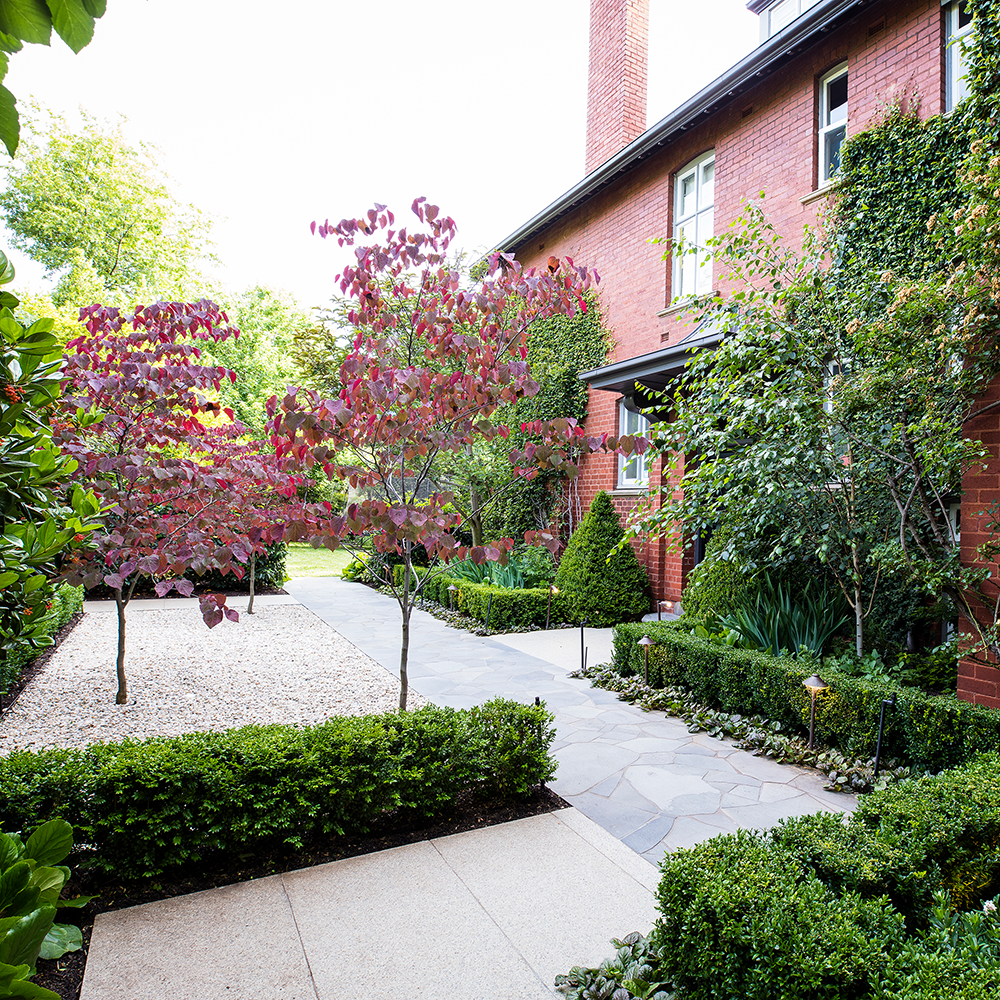
[[[649,0],[590,0],[586,173],[646,131]]]

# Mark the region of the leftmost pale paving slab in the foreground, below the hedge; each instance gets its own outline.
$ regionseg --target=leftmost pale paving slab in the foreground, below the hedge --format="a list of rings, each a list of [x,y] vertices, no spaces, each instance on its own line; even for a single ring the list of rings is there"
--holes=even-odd
[[[318,1000],[280,876],[98,914],[80,1000]]]

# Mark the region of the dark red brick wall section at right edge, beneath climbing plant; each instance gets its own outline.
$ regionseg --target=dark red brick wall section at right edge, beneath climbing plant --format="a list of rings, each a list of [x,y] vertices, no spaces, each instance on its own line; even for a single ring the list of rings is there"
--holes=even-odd
[[[1000,400],[1000,379],[993,382],[982,403],[986,405],[997,400]],[[988,566],[993,572],[992,579],[998,580],[1000,567],[978,559],[976,549],[990,539],[990,519],[986,511],[991,503],[1000,498],[1000,407],[970,421],[965,425],[965,433],[986,445],[989,459],[985,469],[971,470],[962,481],[962,564]],[[988,593],[994,589],[992,584],[987,583]],[[989,620],[985,611],[982,620]],[[959,622],[962,631],[968,631],[970,627],[964,619]],[[977,705],[1000,708],[1000,669],[986,663],[963,660],[958,666],[958,696]]]

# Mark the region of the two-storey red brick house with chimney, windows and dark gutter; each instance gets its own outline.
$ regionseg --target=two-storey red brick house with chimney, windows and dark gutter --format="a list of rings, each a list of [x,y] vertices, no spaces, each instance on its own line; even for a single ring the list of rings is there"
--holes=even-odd
[[[831,195],[845,135],[893,100],[919,95],[926,118],[965,96],[961,53],[948,44],[969,30],[964,2],[751,0],[757,48],[646,128],[648,6],[591,0],[585,175],[499,244],[528,265],[568,255],[601,273],[616,346],[607,365],[583,376],[595,433],[643,428],[636,382],[662,388],[692,346],[715,342],[676,303],[725,294],[725,284],[710,264],[665,263],[650,238],[684,233],[699,243],[764,191],[770,221],[794,245]],[[1000,446],[996,420],[977,430]],[[583,506],[607,490],[624,515],[650,484],[669,485],[663,475],[659,461],[591,456],[581,468]],[[1000,463],[993,479],[1000,491]],[[970,557],[975,544],[970,533]],[[700,555],[697,540],[683,556],[662,540],[647,545],[655,597],[678,601]],[[960,677],[960,693],[1000,707],[1000,671],[979,670]]]

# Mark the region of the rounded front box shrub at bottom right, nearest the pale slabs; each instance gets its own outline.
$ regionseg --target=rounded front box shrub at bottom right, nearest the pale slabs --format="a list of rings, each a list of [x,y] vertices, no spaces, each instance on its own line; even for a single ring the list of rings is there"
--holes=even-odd
[[[868,996],[903,937],[885,900],[837,895],[743,830],[668,855],[657,902],[663,971],[690,1000]]]

